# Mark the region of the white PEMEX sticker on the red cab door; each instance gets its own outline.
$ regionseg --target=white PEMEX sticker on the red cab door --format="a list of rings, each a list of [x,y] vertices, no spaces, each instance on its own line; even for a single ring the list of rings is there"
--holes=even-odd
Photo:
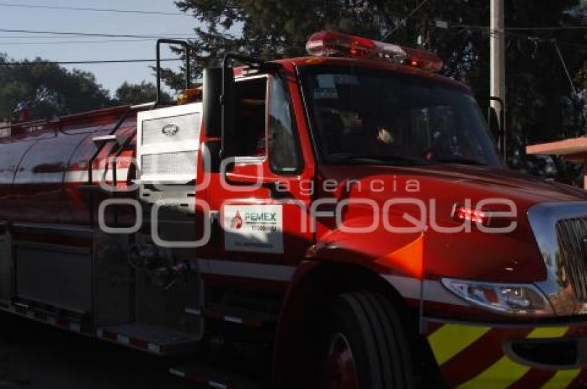
[[[226,250],[283,253],[281,205],[227,205],[222,211]]]

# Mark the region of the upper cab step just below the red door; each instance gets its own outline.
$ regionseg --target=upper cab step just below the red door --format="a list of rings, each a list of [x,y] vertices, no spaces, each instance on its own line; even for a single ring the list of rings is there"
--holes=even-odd
[[[258,312],[244,308],[210,305],[205,308],[186,308],[189,315],[202,316],[206,319],[227,321],[243,326],[260,327],[267,323],[276,323],[277,315]]]

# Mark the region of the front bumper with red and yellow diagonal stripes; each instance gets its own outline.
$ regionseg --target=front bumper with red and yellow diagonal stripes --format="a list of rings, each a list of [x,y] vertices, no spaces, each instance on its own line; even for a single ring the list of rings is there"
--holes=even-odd
[[[430,319],[426,324],[448,388],[587,386],[587,322],[497,325]]]

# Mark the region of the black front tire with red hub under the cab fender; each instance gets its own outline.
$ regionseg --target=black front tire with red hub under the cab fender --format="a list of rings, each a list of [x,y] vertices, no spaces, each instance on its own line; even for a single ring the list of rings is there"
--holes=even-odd
[[[320,389],[414,387],[407,335],[392,305],[378,293],[336,298],[323,349]]]

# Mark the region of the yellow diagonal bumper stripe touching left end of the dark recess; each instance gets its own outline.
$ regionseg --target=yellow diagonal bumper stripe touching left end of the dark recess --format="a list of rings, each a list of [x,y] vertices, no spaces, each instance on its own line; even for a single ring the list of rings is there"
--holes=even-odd
[[[463,383],[459,388],[463,389],[499,389],[508,388],[530,370],[529,367],[520,365],[504,356],[490,368]]]

